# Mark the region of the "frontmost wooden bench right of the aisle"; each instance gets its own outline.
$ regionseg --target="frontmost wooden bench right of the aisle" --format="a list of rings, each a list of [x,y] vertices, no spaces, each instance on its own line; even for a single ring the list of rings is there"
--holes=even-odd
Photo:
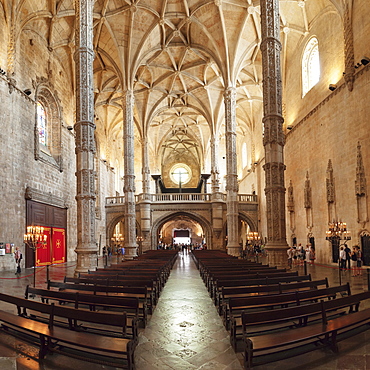
[[[339,340],[370,328],[370,309],[358,311],[360,302],[369,298],[370,292],[368,291],[311,305],[256,313],[243,312],[245,368],[250,369],[253,366],[278,361],[322,347],[330,347],[333,351],[337,351]],[[347,307],[349,307],[348,314],[328,320],[327,316],[330,312]],[[297,318],[305,324],[308,316],[318,313],[320,315],[318,323],[299,326],[298,329],[255,336],[250,336],[248,330],[251,325],[270,325],[277,321],[290,321]]]

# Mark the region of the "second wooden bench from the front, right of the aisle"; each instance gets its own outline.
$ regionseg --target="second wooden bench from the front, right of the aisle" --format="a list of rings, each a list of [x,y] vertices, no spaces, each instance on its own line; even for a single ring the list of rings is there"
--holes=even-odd
[[[230,297],[228,301],[228,316],[224,317],[225,326],[230,329],[230,341],[234,348],[237,340],[242,337],[242,312],[253,310],[271,310],[276,306],[286,308],[290,305],[299,306],[318,300],[334,299],[351,294],[349,283],[331,288],[295,291],[284,294],[252,297]],[[226,315],[226,313],[224,313]]]

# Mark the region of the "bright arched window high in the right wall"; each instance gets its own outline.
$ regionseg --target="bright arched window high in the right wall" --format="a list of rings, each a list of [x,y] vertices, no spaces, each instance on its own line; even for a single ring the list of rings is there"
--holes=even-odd
[[[320,80],[319,42],[312,37],[307,43],[302,57],[302,98]]]

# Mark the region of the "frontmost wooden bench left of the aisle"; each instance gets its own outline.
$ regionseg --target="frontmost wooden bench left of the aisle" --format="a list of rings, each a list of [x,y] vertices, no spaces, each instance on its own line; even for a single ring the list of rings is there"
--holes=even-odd
[[[70,312],[78,310],[67,307],[56,309],[53,304],[28,301],[24,298],[5,294],[0,295],[0,300],[16,305],[18,311],[23,312],[24,307],[26,307],[47,315],[47,323],[44,323],[33,320],[31,317],[19,316],[0,310],[1,330],[16,336],[20,340],[38,346],[40,359],[43,359],[48,352],[54,351],[84,361],[103,363],[120,368],[134,368],[135,341],[77,331],[75,326],[61,327],[56,325],[56,315],[66,315],[66,310],[70,310]],[[58,311],[60,309],[63,309],[63,313]],[[85,311],[82,319],[85,322],[100,322],[102,320],[107,322],[108,325],[122,325],[122,331],[124,332],[126,316],[125,314],[117,314],[116,316]],[[79,316],[78,318],[80,319]]]

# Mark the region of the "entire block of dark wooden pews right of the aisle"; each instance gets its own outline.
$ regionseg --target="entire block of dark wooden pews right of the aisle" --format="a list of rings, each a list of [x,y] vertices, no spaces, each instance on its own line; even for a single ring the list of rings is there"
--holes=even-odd
[[[338,341],[370,328],[370,292],[330,287],[276,267],[239,260],[221,251],[193,251],[230,341],[244,366],[293,357],[318,348],[338,351]]]

